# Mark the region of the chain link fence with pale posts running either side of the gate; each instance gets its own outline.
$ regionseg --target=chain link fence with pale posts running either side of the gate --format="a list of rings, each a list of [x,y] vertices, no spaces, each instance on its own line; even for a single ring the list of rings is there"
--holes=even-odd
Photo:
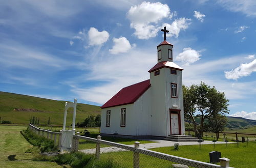
[[[61,131],[52,132],[42,130],[29,124],[29,129],[39,136],[45,136],[54,140],[60,147]],[[83,149],[79,149],[83,145]],[[84,148],[86,147],[86,148]],[[96,138],[73,135],[72,151],[80,151],[86,154],[93,154],[97,159],[106,162],[113,162],[115,167],[229,167],[229,159],[221,158],[220,164],[211,164],[197,160],[187,159],[156,151],[139,148],[139,142],[134,143],[134,147]]]

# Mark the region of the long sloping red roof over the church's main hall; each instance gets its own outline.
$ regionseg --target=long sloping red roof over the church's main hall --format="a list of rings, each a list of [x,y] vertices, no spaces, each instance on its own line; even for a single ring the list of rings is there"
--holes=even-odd
[[[150,79],[147,79],[129,87],[125,87],[103,104],[101,108],[134,103],[148,88],[150,88],[150,86]]]

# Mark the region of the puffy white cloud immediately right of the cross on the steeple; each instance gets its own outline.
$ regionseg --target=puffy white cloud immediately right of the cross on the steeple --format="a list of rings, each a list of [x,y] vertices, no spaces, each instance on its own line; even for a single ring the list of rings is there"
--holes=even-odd
[[[163,26],[166,26],[166,29],[169,30],[169,33],[166,34],[166,37],[179,37],[181,30],[186,30],[188,25],[191,24],[191,19],[186,19],[184,17],[176,19],[172,24],[164,23]]]

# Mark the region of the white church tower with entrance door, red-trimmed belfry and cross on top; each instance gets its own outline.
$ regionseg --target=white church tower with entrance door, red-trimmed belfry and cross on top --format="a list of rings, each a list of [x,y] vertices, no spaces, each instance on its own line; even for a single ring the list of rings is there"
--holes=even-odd
[[[184,135],[182,68],[173,62],[173,44],[164,40],[157,46],[157,64],[151,68],[151,129],[154,135]]]

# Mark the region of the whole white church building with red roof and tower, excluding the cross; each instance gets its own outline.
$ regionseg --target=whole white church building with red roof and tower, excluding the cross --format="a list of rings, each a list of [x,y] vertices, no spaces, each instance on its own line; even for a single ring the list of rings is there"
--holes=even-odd
[[[184,135],[182,68],[173,62],[173,45],[157,46],[150,79],[120,90],[101,106],[101,135]]]

